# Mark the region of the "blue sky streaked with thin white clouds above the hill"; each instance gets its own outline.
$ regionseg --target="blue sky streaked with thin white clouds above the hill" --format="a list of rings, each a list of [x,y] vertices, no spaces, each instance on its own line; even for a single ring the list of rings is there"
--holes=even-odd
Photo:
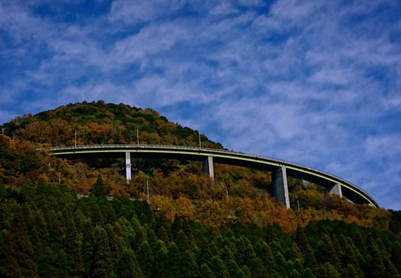
[[[1,123],[151,107],[401,210],[400,1],[3,0],[0,65]]]

